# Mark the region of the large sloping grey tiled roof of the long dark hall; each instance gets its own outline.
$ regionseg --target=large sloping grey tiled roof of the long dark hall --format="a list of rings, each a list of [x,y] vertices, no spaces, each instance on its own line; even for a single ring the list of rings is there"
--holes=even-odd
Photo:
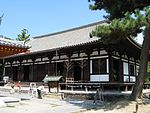
[[[33,37],[33,39],[31,39],[28,43],[31,45],[30,52],[77,46],[97,41],[98,38],[90,38],[89,34],[96,27],[96,25],[104,22],[105,21],[96,22],[62,32]]]

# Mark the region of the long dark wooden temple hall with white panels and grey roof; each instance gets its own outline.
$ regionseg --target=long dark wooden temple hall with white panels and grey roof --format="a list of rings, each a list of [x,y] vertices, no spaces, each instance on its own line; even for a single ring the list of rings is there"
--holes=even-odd
[[[41,82],[46,75],[54,80],[62,76],[70,84],[134,84],[138,75],[140,46],[127,38],[105,45],[90,32],[104,21],[33,37],[28,52],[9,56],[2,54],[4,75],[13,81]],[[1,51],[26,51],[27,48],[0,47]],[[6,52],[7,54],[7,52]],[[57,77],[60,78],[60,77]]]

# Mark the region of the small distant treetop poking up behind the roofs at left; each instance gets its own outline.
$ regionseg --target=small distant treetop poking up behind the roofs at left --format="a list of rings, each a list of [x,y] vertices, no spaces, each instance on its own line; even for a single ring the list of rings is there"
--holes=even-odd
[[[30,34],[28,34],[27,29],[21,30],[21,34],[18,35],[18,38],[16,38],[18,41],[24,41],[25,43],[30,40]]]

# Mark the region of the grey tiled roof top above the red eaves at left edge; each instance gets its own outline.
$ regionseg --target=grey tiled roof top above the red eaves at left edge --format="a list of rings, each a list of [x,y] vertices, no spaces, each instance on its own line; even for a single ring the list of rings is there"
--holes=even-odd
[[[11,46],[11,47],[18,47],[18,48],[29,48],[28,46],[24,45],[23,41],[15,41],[9,40],[0,37],[0,46]]]

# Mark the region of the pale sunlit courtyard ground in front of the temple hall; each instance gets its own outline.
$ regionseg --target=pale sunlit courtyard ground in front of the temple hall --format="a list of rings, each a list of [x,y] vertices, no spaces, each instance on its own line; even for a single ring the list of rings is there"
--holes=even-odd
[[[150,113],[150,100],[146,98],[138,102],[119,98],[112,102],[93,103],[93,100],[49,96],[38,99],[26,92],[10,94],[8,90],[0,89],[1,113]]]

